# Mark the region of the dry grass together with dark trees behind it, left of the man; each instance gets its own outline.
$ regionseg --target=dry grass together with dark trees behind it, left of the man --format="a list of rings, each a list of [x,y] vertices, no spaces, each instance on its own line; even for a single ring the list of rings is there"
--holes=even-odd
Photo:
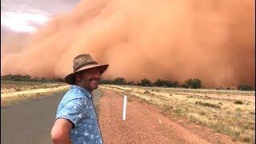
[[[54,93],[62,93],[69,86],[61,78],[31,78],[29,75],[1,76],[1,106],[43,98]]]

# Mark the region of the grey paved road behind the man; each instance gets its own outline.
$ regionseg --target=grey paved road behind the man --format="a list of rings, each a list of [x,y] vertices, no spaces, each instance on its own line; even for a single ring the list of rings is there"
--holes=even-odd
[[[100,90],[94,91],[98,103]],[[1,144],[48,144],[50,130],[63,94],[1,109]],[[97,106],[96,106],[97,107]]]

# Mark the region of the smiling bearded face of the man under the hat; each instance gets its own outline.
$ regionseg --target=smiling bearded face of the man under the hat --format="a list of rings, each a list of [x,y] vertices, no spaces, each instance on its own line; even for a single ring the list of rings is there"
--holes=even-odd
[[[98,68],[84,70],[82,74],[78,74],[76,80],[86,90],[94,90],[98,88],[100,73]]]

